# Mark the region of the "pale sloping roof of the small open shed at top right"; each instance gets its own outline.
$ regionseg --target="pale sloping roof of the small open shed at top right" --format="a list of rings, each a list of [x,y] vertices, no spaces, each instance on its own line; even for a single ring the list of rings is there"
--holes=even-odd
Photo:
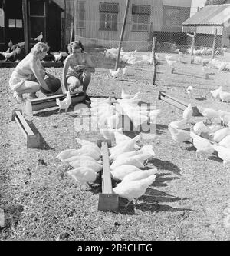
[[[224,25],[230,19],[230,4],[208,5],[188,18],[182,25]]]

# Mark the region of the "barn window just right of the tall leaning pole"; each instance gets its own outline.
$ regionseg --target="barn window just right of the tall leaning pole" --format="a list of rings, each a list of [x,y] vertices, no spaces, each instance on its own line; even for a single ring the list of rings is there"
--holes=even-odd
[[[150,5],[132,5],[132,30],[148,31],[150,14]]]

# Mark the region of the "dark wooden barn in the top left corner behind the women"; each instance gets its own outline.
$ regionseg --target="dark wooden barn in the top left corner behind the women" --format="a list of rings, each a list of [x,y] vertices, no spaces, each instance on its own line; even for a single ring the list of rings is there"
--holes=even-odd
[[[25,52],[32,47],[32,38],[43,34],[52,52],[61,49],[62,0],[0,0],[0,52],[8,42],[25,42]]]

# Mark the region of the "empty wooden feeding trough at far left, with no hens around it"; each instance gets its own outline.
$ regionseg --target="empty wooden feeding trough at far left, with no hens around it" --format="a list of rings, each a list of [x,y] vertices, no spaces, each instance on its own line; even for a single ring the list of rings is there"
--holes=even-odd
[[[34,131],[31,130],[27,121],[21,114],[21,110],[14,109],[11,120],[17,122],[22,134],[25,136],[27,148],[38,148],[40,146],[40,135],[35,134]]]

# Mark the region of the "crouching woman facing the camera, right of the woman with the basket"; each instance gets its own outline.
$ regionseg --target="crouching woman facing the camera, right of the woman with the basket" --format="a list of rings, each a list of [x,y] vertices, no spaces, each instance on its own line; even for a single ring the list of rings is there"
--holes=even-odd
[[[81,41],[74,41],[68,45],[70,55],[64,61],[62,91],[74,92],[82,85],[84,95],[90,84],[91,73],[95,72],[94,63],[90,56],[84,52]]]

